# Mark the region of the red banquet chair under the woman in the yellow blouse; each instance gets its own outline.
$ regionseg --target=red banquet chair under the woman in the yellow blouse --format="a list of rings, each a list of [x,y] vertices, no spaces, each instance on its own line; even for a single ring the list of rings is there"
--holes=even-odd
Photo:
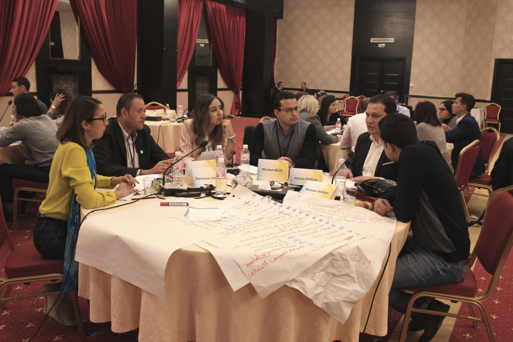
[[[14,247],[14,242],[7,228],[4,214],[0,210],[0,247],[6,242],[11,253],[7,256],[4,265],[6,278],[0,277],[0,294],[2,294],[2,291],[5,289],[4,294],[0,298],[0,310],[5,308],[5,304],[8,301],[46,297],[60,293],[57,291],[9,296],[12,286],[16,284],[28,285],[39,281],[63,280],[64,260],[44,259],[35,249],[32,239]],[[73,303],[78,334],[84,336],[84,327],[82,325],[76,289],[70,293],[70,297]]]

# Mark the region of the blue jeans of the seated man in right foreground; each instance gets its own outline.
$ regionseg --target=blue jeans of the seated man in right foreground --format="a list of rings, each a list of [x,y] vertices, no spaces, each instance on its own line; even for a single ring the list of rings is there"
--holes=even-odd
[[[401,291],[400,288],[456,283],[467,273],[468,266],[460,264],[448,263],[442,257],[419,247],[413,242],[413,236],[408,235],[396,261],[396,272],[393,274],[388,304],[393,309],[405,313],[411,294]],[[425,297],[419,298],[413,307],[424,309],[427,304]]]

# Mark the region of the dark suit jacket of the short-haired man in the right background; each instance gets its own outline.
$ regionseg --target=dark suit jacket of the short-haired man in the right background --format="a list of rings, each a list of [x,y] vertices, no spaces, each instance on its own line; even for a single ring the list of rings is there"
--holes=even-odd
[[[481,141],[481,131],[479,129],[478,122],[472,115],[470,115],[470,113],[465,114],[455,128],[445,132],[445,140],[447,143],[454,143],[454,149],[452,150],[450,160],[452,168],[454,169],[454,172],[456,172],[461,150],[474,140]],[[476,163],[472,168],[472,172],[470,173],[470,177],[477,177],[483,174],[483,172],[483,153],[481,152],[481,148],[479,148],[479,154],[476,159]]]

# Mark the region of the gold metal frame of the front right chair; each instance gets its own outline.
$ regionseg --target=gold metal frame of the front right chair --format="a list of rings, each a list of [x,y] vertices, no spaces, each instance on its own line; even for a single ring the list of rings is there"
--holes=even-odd
[[[485,212],[488,209],[488,204],[490,203],[490,199],[493,196],[497,195],[498,193],[501,193],[504,191],[511,191],[511,190],[513,190],[513,186],[510,186],[510,187],[507,187],[504,189],[500,189],[500,190],[497,190],[494,193],[492,193],[491,196],[488,198],[488,202],[486,203]],[[485,219],[486,219],[486,217],[485,217]],[[502,253],[499,263],[497,264],[497,268],[494,272],[494,275],[491,278],[490,285],[488,286],[486,293],[480,297],[465,297],[465,296],[452,295],[452,294],[446,294],[446,293],[438,293],[438,292],[429,292],[429,291],[412,292],[412,291],[403,290],[404,292],[410,293],[413,295],[410,298],[410,301],[408,303],[408,308],[407,308],[406,313],[403,318],[404,321],[403,321],[403,327],[401,330],[401,338],[399,339],[399,342],[404,342],[404,339],[406,338],[406,330],[408,329],[408,323],[409,323],[409,320],[406,317],[409,317],[412,312],[419,312],[419,313],[426,313],[426,314],[431,314],[431,315],[439,315],[439,316],[471,320],[472,324],[475,328],[478,328],[479,322],[481,322],[485,325],[486,332],[488,334],[488,338],[490,339],[490,342],[495,342],[494,332],[491,329],[490,320],[488,318],[488,314],[486,313],[486,309],[485,309],[483,303],[486,300],[490,299],[491,296],[494,294],[495,288],[497,286],[497,282],[499,281],[499,278],[501,275],[502,268],[504,266],[504,263],[506,262],[506,259],[508,257],[509,251],[511,250],[512,246],[513,246],[513,233],[509,236],[509,239],[508,239],[508,242],[504,249],[504,252]],[[476,261],[476,258],[477,258],[476,252],[472,251],[472,255],[470,256],[470,262],[468,264],[468,268],[472,267],[472,265]],[[413,303],[415,303],[415,300],[417,300],[420,297],[439,298],[439,299],[461,301],[462,303],[467,303],[468,311],[470,312],[470,315],[472,315],[472,316],[412,308]],[[481,316],[483,318],[476,317],[476,313],[474,312],[472,304],[475,304],[479,308],[479,311],[481,312]]]

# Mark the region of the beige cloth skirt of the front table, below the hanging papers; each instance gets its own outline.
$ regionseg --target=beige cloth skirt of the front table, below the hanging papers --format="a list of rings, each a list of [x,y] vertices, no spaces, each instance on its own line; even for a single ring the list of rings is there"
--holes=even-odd
[[[366,333],[387,333],[388,292],[409,223],[398,222],[388,265],[378,288]],[[382,271],[385,266],[385,256]],[[300,291],[283,286],[262,299],[251,284],[233,291],[210,252],[191,245],[174,252],[165,271],[166,299],[81,264],[78,292],[90,299],[90,319],[112,322],[112,331],[139,328],[139,341],[305,341],[359,339],[379,278],[355,305],[345,324],[313,305]]]

